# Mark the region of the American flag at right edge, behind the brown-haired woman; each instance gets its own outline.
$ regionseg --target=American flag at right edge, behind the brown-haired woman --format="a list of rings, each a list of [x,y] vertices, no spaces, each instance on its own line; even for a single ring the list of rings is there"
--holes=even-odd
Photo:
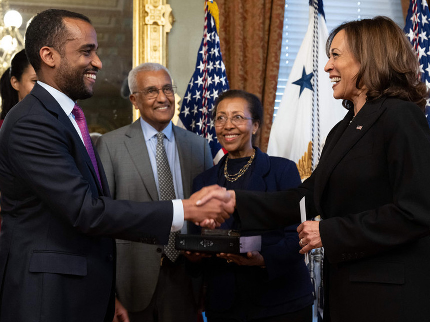
[[[426,0],[410,0],[404,32],[409,37],[419,59],[421,80],[430,89],[430,11]],[[427,97],[425,116],[430,125],[430,101]]]

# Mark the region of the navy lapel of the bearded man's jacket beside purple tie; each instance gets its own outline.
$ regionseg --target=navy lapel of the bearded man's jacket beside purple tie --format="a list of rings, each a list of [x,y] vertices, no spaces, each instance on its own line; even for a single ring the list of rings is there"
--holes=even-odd
[[[53,98],[53,96],[51,94],[49,94],[49,92],[44,89],[42,86],[40,86],[39,84],[35,84],[33,87],[33,90],[31,91],[31,94],[34,95],[35,97],[37,97],[37,99],[43,104],[43,106],[51,112],[52,115],[55,115],[58,118],[58,121],[60,121],[65,128],[67,128],[73,136],[73,139],[75,142],[77,142],[76,146],[77,146],[77,150],[79,151],[79,153],[83,156],[83,158],[85,159],[86,164],[88,165],[89,169],[91,170],[93,179],[95,181],[95,184],[97,185],[97,189],[100,195],[103,195],[103,191],[108,191],[108,187],[107,190],[103,189],[103,191],[101,190],[100,187],[100,183],[98,182],[98,177],[97,174],[95,173],[95,169],[94,166],[92,165],[92,161],[91,158],[89,157],[88,151],[86,151],[85,145],[83,144],[82,140],[80,139],[79,134],[76,132],[75,127],[73,126],[73,124],[71,123],[68,115],[65,114],[64,110],[61,108],[61,106],[59,105],[59,103],[57,102],[57,100],[55,98]],[[92,143],[92,142],[91,142]],[[99,166],[99,168],[101,168],[101,170],[103,169],[103,167],[101,165],[100,159],[98,158],[97,155],[97,150],[96,148],[93,146],[95,155],[96,155],[96,160],[97,160],[97,164]],[[103,170],[102,170],[103,171]],[[100,177],[101,177],[101,173],[100,173]],[[104,176],[104,173],[103,173]],[[104,187],[103,187],[104,188]]]

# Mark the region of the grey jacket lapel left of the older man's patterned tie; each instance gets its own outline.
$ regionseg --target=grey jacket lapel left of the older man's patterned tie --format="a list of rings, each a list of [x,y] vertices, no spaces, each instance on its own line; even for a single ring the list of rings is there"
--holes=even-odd
[[[125,133],[124,144],[152,200],[159,200],[145,137],[140,119],[132,123]]]

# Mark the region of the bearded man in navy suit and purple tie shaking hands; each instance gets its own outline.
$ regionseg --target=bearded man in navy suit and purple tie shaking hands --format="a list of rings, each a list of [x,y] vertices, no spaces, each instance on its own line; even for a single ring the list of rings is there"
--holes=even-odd
[[[25,39],[39,81],[0,131],[0,320],[110,322],[113,238],[166,244],[184,219],[223,221],[226,205],[198,207],[195,195],[182,202],[109,198],[75,104],[92,95],[102,67],[94,28],[83,15],[46,10]]]

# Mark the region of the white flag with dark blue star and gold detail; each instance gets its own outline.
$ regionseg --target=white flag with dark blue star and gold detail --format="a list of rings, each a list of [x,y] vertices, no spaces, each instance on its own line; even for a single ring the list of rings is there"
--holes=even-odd
[[[297,163],[302,179],[316,166],[325,138],[346,114],[324,72],[328,38],[322,0],[309,1],[309,25],[288,77],[267,153]]]

